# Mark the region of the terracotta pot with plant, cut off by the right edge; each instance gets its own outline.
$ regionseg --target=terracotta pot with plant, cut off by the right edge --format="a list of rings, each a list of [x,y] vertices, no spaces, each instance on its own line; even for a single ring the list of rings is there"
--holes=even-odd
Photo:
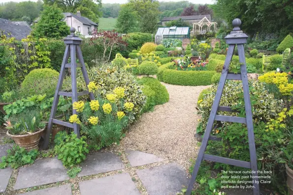
[[[286,159],[282,159],[280,163],[286,163],[287,186],[289,195],[293,195],[293,151],[283,150]]]

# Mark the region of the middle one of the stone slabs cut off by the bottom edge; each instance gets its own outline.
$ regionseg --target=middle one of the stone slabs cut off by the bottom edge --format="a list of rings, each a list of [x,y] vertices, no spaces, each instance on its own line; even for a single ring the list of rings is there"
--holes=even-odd
[[[140,195],[129,173],[79,182],[81,195]]]

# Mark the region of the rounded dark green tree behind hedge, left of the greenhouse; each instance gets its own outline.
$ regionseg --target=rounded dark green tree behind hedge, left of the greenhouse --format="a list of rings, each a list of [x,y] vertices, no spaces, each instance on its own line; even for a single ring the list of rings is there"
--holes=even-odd
[[[130,33],[138,30],[138,14],[130,6],[122,5],[116,26],[118,32]]]

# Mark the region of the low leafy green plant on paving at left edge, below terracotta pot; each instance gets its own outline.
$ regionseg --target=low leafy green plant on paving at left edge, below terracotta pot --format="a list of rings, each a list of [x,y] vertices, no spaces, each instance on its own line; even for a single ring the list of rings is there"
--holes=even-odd
[[[27,164],[33,164],[37,155],[38,151],[36,149],[28,152],[25,148],[13,145],[11,149],[7,150],[7,155],[2,157],[0,168],[18,168]]]

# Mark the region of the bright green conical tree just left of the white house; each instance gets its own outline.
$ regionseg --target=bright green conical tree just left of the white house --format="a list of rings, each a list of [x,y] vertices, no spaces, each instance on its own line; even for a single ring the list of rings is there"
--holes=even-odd
[[[32,34],[36,37],[60,39],[69,34],[69,27],[63,21],[64,15],[57,4],[44,5],[40,20],[33,28]]]

